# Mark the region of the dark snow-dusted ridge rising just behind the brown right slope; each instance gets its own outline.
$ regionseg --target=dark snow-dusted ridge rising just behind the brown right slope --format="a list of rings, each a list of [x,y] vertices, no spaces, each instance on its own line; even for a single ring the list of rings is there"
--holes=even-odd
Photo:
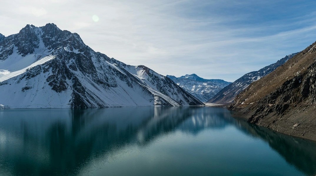
[[[233,83],[229,84],[225,88],[223,88],[220,92],[218,92],[213,98],[211,98],[209,103],[231,103],[234,101],[236,95],[238,95],[241,91],[247,88],[252,82],[259,80],[260,78],[268,75],[272,71],[274,71],[277,67],[283,65],[286,61],[294,57],[298,53],[293,53],[285,56],[281,60],[278,60],[276,63],[268,65],[258,71],[252,71],[250,73],[245,74],[240,77]]]

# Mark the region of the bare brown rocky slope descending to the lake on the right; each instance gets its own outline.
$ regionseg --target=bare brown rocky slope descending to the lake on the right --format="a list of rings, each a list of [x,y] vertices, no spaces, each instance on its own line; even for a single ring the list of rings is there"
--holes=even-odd
[[[248,122],[316,139],[316,43],[253,82],[230,107]]]

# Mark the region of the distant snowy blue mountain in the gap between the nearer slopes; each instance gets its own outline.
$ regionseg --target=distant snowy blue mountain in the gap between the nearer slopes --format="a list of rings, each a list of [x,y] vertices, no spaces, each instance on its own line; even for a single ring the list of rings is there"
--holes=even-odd
[[[222,90],[222,88],[231,83],[221,79],[204,79],[198,77],[196,74],[181,77],[167,75],[167,77],[202,102],[211,99],[215,94]]]

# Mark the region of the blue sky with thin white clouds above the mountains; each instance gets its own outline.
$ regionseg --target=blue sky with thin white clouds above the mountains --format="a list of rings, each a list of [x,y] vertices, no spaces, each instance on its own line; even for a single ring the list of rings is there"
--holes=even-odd
[[[11,0],[0,33],[54,23],[86,45],[162,75],[233,82],[316,41],[314,0]]]

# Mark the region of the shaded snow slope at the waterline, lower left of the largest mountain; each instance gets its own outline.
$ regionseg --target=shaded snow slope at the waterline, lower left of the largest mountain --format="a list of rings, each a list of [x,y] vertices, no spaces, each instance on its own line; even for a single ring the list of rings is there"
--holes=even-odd
[[[39,84],[50,74],[49,71],[27,81],[21,80],[20,83],[9,79],[8,84],[2,85],[0,104],[9,108],[69,108],[70,91],[57,93],[46,82]],[[25,86],[32,88],[21,91]]]

